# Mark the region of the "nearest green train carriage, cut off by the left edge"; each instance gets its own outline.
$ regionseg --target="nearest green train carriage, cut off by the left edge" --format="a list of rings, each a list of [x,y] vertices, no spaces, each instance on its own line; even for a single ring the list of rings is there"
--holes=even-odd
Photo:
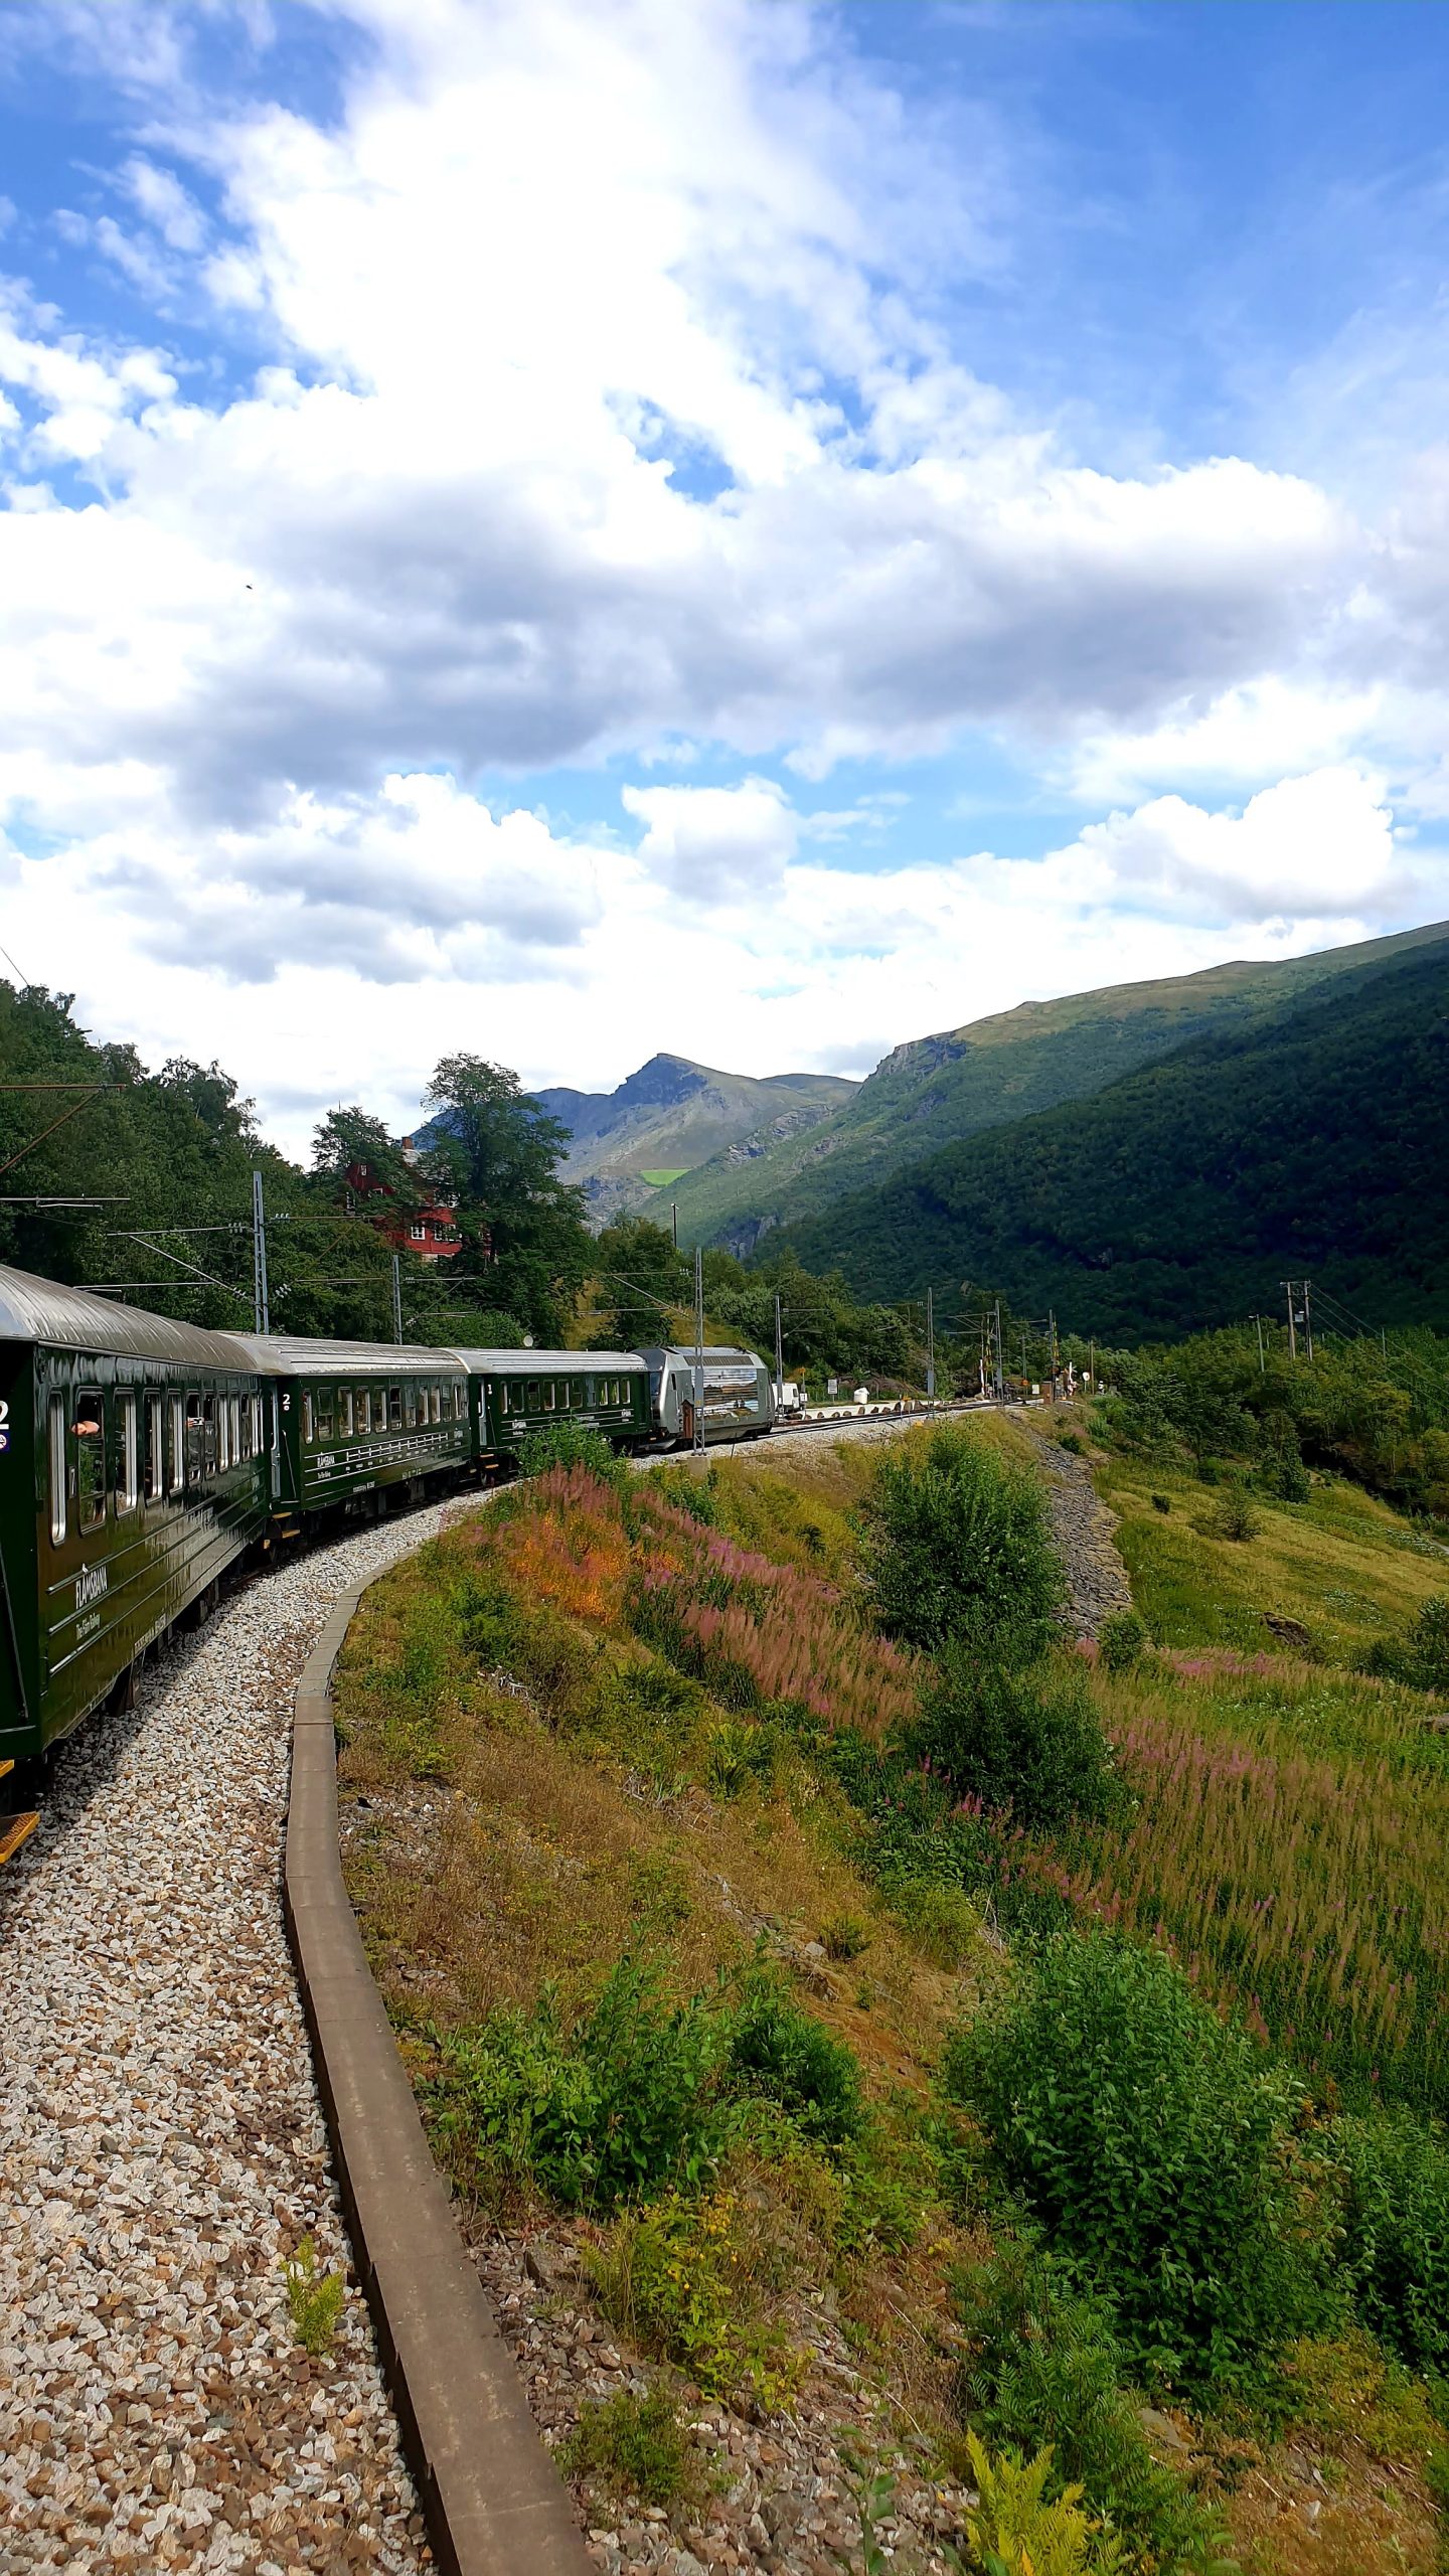
[[[0,1267],[0,1772],[126,1685],[263,1538],[271,1427],[227,1334]]]

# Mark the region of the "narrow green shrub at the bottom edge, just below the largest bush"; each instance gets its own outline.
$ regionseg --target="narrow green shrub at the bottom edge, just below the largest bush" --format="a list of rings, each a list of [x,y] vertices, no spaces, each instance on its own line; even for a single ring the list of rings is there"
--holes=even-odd
[[[1049,2254],[1008,2239],[957,2280],[969,2339],[959,2401],[977,2434],[1013,2452],[1052,2450],[1047,2496],[1085,2504],[1147,2563],[1214,2568],[1222,2540],[1181,2478],[1152,2458],[1122,2388],[1122,2349],[1098,2300]]]

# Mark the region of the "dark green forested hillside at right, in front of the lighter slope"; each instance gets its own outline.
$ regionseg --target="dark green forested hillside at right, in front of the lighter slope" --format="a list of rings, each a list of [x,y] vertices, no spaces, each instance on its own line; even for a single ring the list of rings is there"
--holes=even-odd
[[[779,1247],[866,1296],[972,1280],[1114,1340],[1274,1309],[1305,1273],[1372,1321],[1449,1327],[1449,940],[933,1154]]]

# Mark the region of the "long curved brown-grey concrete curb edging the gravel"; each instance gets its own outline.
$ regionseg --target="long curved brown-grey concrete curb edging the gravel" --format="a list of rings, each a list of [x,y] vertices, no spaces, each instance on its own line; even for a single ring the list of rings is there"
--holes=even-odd
[[[353,2259],[443,2576],[590,2576],[567,2491],[464,2254],[343,1883],[330,1685],[366,1589],[343,1592],[297,1685],[284,1865]]]

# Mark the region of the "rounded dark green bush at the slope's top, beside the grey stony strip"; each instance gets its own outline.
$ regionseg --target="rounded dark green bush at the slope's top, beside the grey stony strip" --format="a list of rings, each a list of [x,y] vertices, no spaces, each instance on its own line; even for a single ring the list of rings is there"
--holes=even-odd
[[[1062,1600],[1042,1486],[959,1430],[882,1455],[864,1504],[864,1566],[882,1628],[926,1651],[959,1638],[1034,1656]]]

